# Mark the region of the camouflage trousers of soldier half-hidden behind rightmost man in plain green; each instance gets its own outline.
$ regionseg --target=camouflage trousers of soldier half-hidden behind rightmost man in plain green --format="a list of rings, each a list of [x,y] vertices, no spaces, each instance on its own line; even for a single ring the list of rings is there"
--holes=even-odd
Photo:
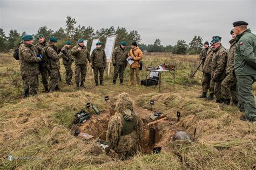
[[[232,101],[237,102],[237,79],[232,73],[229,73],[221,82],[221,95],[224,99],[232,97]]]

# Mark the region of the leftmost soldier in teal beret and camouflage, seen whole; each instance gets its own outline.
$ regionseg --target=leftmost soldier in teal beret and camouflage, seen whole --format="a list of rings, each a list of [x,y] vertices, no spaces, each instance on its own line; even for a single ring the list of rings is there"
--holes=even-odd
[[[26,35],[22,37],[23,43],[19,47],[19,64],[24,86],[24,98],[29,95],[36,95],[38,89],[38,62],[41,58],[37,57],[36,48],[33,46],[33,37]],[[33,48],[34,47],[34,48]]]

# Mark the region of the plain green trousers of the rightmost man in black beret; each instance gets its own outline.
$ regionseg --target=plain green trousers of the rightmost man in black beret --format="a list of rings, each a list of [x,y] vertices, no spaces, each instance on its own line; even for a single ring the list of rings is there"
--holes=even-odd
[[[238,109],[245,113],[247,119],[256,121],[256,108],[252,84],[256,75],[235,75],[237,78]]]

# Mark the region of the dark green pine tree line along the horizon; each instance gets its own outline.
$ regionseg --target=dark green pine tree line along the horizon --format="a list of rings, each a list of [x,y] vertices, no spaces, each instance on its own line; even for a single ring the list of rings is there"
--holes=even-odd
[[[34,37],[37,37],[38,34],[43,34],[48,41],[50,36],[54,36],[59,39],[57,46],[62,47],[64,42],[69,40],[73,44],[77,44],[77,40],[79,38],[83,38],[87,40],[87,48],[91,48],[92,40],[99,38],[99,40],[103,43],[106,41],[106,38],[109,36],[113,36],[117,34],[116,37],[116,44],[115,46],[119,45],[119,42],[126,41],[127,44],[131,44],[132,42],[136,41],[139,44],[139,47],[143,51],[148,52],[172,52],[174,54],[199,54],[201,49],[203,49],[203,38],[200,36],[194,36],[191,42],[187,45],[186,41],[178,40],[177,44],[163,46],[161,45],[161,41],[156,39],[154,44],[140,44],[142,41],[140,34],[138,31],[127,31],[125,27],[118,27],[114,29],[113,26],[109,28],[102,28],[100,30],[94,30],[91,26],[76,26],[77,22],[75,18],[70,16],[66,17],[66,24],[65,27],[60,27],[57,31],[53,31],[49,29],[47,26],[39,27],[38,31],[33,34]],[[6,37],[5,32],[3,29],[0,28],[0,52],[8,52],[10,49],[14,49],[18,46],[19,42],[22,41],[22,36],[24,36],[26,32],[18,33],[17,30],[11,30],[8,33],[8,37]],[[35,44],[38,40],[35,38]],[[130,46],[127,46],[130,49]]]

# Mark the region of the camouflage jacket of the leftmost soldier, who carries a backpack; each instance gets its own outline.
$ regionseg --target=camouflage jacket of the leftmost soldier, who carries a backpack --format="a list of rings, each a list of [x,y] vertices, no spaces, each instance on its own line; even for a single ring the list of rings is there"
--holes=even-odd
[[[23,42],[19,47],[19,64],[22,76],[35,76],[39,74],[38,62],[35,46]]]

